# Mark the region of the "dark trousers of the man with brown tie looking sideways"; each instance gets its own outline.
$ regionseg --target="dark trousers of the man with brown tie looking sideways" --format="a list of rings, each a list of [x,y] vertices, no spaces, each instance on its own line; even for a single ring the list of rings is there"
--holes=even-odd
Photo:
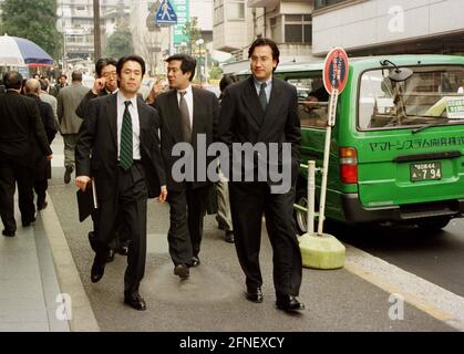
[[[186,188],[167,194],[167,202],[171,207],[167,241],[171,258],[176,266],[189,266],[192,257],[198,257],[209,188],[210,186]]]

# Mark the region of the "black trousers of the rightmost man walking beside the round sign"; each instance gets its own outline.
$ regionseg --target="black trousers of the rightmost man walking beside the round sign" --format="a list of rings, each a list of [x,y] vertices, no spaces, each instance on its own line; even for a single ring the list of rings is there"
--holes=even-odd
[[[270,194],[266,183],[229,183],[235,247],[248,289],[261,287],[259,268],[262,214],[274,253],[277,295],[298,295],[301,285],[301,252],[292,223],[295,188]]]

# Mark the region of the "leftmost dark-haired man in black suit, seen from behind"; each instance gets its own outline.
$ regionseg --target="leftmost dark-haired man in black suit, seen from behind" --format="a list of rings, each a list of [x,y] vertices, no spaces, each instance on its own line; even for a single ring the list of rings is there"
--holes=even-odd
[[[3,82],[7,93],[0,95],[0,216],[4,226],[3,236],[13,237],[17,230],[13,199],[17,181],[22,225],[30,226],[35,221],[31,168],[34,163],[34,142],[48,159],[53,155],[38,104],[20,95],[21,74],[9,71]]]

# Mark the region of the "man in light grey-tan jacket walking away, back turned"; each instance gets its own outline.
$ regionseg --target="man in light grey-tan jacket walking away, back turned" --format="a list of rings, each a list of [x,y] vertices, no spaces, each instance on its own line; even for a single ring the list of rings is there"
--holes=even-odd
[[[89,88],[82,85],[82,73],[74,71],[71,74],[72,83],[60,90],[58,94],[58,121],[60,123],[60,133],[64,140],[64,177],[65,184],[71,181],[71,174],[74,170],[74,150],[78,139],[79,128],[82,119],[75,114],[82,98],[84,98]]]

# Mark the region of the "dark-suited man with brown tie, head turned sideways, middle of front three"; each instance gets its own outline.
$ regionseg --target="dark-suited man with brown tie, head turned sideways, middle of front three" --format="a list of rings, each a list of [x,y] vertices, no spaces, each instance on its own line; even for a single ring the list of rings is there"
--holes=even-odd
[[[199,264],[203,236],[203,219],[206,214],[212,183],[199,180],[197,170],[197,140],[206,137],[206,148],[213,143],[214,128],[219,115],[219,102],[214,93],[192,87],[196,61],[186,54],[176,54],[166,60],[169,92],[159,94],[155,108],[162,119],[162,152],[167,170],[167,201],[171,207],[171,226],[167,236],[169,253],[174,262],[174,274],[186,279],[189,267]],[[176,181],[173,166],[181,157],[173,156],[177,143],[189,143],[193,155],[187,158],[194,166],[194,178]],[[206,177],[206,170],[200,174]]]

